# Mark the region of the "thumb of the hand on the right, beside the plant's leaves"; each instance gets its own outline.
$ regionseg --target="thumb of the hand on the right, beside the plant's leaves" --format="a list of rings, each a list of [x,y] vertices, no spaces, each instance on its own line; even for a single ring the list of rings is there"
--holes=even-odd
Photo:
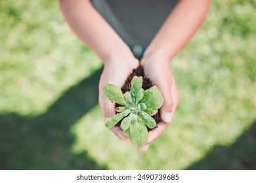
[[[171,97],[170,84],[160,86],[161,94],[163,95],[163,105],[160,108],[161,119],[163,122],[169,123],[173,118],[173,98]]]

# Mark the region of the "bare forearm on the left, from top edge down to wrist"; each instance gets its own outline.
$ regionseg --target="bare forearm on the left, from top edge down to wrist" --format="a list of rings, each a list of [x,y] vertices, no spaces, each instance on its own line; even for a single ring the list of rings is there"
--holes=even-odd
[[[132,56],[129,47],[95,10],[89,0],[58,0],[74,33],[106,62],[113,56]]]

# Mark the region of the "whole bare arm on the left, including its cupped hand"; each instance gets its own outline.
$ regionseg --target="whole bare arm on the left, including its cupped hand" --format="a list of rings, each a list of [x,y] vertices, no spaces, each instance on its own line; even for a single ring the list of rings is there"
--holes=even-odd
[[[104,70],[98,86],[98,102],[105,122],[116,114],[115,104],[106,99],[103,87],[107,83],[123,86],[127,76],[139,65],[133,53],[95,10],[89,0],[58,0],[60,10],[74,33],[96,52],[104,62]],[[110,129],[119,139],[129,142],[120,127]]]

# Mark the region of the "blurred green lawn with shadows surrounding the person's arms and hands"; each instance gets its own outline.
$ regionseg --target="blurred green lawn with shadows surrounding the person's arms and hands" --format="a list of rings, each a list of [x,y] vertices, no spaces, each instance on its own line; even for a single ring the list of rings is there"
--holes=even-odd
[[[102,63],[57,1],[0,1],[0,169],[256,169],[256,2],[213,1],[172,64],[180,104],[148,152],[98,107]]]

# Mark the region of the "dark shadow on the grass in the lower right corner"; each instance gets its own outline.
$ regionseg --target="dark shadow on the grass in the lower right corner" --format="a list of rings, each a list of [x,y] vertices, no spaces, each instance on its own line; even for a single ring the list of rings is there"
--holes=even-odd
[[[256,169],[256,120],[229,147],[215,146],[187,169]]]

